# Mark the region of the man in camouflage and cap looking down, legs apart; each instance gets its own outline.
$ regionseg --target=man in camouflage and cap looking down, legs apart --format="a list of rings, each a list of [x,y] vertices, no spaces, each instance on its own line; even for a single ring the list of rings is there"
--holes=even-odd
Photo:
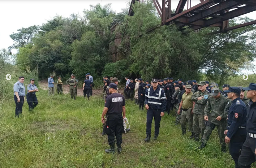
[[[202,149],[206,146],[206,143],[209,140],[212,131],[217,126],[221,144],[221,151],[224,153],[226,152],[224,131],[227,127],[227,120],[224,116],[224,109],[226,104],[229,104],[230,106],[230,103],[228,102],[229,99],[220,93],[219,88],[212,89],[208,102],[205,106],[204,119],[206,120],[206,128],[204,131],[203,142],[198,147],[199,149]]]

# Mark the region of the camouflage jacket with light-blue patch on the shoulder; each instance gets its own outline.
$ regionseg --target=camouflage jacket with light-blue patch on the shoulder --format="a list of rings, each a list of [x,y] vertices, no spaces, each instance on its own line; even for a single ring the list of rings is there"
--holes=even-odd
[[[203,99],[197,100],[197,98],[199,98],[201,96],[203,96]],[[210,96],[210,92],[208,92],[207,89],[205,89],[204,92],[198,90],[197,92],[195,92],[192,95],[191,100],[196,103],[195,107],[193,109],[193,113],[204,115],[204,109],[205,109],[205,106],[206,106],[209,96]]]

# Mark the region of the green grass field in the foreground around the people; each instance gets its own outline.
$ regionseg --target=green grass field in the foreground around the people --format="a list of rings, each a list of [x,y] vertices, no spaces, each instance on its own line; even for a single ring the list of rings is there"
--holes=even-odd
[[[158,140],[144,143],[146,110],[139,111],[131,101],[126,103],[131,131],[123,134],[123,152],[107,154],[107,135],[101,135],[104,104],[100,96],[89,102],[82,97],[74,101],[69,95],[47,96],[47,91],[40,90],[37,98],[34,113],[28,112],[25,102],[21,118],[14,118],[13,100],[2,104],[0,168],[234,167],[230,154],[220,150],[216,130],[207,147],[198,151],[199,142],[189,139],[190,132],[182,137],[172,115],[162,118]],[[154,134],[154,126],[152,130]]]

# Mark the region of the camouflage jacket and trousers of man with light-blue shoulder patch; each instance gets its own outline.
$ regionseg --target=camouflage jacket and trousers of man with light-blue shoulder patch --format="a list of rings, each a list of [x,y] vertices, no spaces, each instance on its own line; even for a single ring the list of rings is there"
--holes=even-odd
[[[201,90],[198,90],[191,97],[191,100],[195,102],[195,107],[193,109],[193,113],[194,113],[193,131],[194,131],[196,140],[199,140],[200,134],[201,134],[201,138],[203,138],[203,135],[204,135],[204,130],[205,130],[204,109],[208,101],[209,95],[210,93],[207,91],[207,89],[205,89],[204,92],[202,92]],[[197,98],[201,96],[203,96],[203,99],[197,100]]]

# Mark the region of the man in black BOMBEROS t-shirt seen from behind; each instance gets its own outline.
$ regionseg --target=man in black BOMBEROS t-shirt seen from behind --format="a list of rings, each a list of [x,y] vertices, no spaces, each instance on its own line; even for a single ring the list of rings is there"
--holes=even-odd
[[[107,115],[106,133],[108,134],[108,144],[110,149],[106,153],[115,153],[115,139],[117,140],[118,153],[121,153],[122,147],[122,128],[123,119],[125,118],[125,99],[117,91],[117,85],[110,83],[109,92],[111,93],[106,100],[105,107],[101,115],[101,122],[104,123],[104,116]],[[123,116],[122,116],[123,112]]]

